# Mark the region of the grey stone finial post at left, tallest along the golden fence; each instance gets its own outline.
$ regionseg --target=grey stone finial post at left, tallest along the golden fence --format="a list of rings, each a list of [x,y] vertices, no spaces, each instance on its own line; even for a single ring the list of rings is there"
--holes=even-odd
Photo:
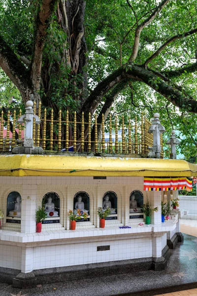
[[[18,120],[18,123],[20,124],[26,122],[24,143],[23,146],[14,147],[12,153],[44,154],[44,150],[42,148],[33,147],[33,118],[35,119],[36,124],[40,124],[41,121],[37,115],[33,114],[33,102],[27,101],[26,106],[27,108],[25,109],[25,114]]]

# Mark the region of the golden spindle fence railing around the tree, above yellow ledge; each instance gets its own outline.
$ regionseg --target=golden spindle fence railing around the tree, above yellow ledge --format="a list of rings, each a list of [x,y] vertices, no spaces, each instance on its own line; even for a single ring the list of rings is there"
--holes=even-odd
[[[35,104],[33,108],[35,112]],[[6,116],[4,116],[6,115]],[[34,146],[40,146],[45,150],[73,151],[73,152],[95,152],[109,154],[140,154],[146,156],[149,152],[148,147],[153,145],[153,134],[148,133],[151,123],[147,120],[145,114],[141,114],[140,122],[135,117],[121,118],[118,121],[116,115],[112,118],[109,114],[107,120],[98,123],[97,113],[91,118],[88,114],[88,122],[84,120],[84,113],[81,114],[81,120],[77,121],[76,112],[72,114],[73,121],[69,120],[69,113],[66,112],[64,118],[62,111],[59,111],[59,117],[54,120],[54,111],[47,114],[46,109],[41,112],[39,104],[37,115],[41,119],[41,124],[35,125],[33,122],[33,141]],[[0,151],[11,151],[16,145],[16,139],[23,140],[25,124],[17,123],[21,116],[21,110],[16,115],[16,111],[7,111],[7,114],[0,114]],[[7,121],[3,118],[7,118]],[[127,122],[127,124],[126,124]],[[10,129],[11,124],[13,126]],[[93,131],[94,127],[94,133]],[[100,133],[98,133],[98,130]],[[94,135],[93,135],[94,134]],[[163,146],[163,137],[161,135],[161,145]],[[164,157],[162,149],[161,158]]]

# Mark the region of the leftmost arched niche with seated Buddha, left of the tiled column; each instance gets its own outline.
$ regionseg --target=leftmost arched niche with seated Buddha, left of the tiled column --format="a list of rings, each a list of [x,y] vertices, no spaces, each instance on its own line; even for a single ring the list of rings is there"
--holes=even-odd
[[[7,196],[6,216],[6,222],[21,223],[21,195],[17,191],[12,191]]]

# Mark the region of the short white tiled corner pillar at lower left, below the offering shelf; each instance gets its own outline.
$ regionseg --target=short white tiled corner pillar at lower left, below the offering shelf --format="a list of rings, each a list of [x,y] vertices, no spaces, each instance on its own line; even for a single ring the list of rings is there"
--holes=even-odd
[[[21,272],[33,271],[33,248],[22,248]]]

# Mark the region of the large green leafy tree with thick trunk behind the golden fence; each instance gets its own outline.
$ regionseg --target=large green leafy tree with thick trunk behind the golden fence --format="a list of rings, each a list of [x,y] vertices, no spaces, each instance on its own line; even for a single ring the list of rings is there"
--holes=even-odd
[[[0,0],[0,67],[24,103],[56,117],[160,109],[184,133],[197,113],[196,33],[195,0]]]

